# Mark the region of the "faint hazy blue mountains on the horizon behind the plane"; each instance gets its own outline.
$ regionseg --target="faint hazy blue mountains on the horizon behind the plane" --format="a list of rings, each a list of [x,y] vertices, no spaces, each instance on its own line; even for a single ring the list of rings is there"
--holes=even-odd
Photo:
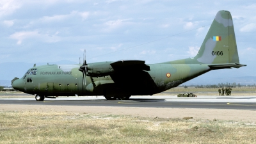
[[[74,61],[56,61],[49,64],[77,64]],[[14,77],[22,77],[25,72],[34,63],[0,63],[0,85],[1,86],[11,86],[11,81]],[[47,63],[36,63],[38,65],[47,65]],[[256,76],[244,76],[244,73],[234,69],[227,70],[212,70],[202,76],[198,76],[195,79],[191,79],[182,85],[201,85],[201,84],[218,84],[218,83],[240,83],[240,84],[256,84]]]

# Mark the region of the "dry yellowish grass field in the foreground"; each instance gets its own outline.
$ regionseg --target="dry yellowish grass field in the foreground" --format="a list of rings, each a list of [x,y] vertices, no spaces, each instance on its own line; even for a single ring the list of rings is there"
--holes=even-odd
[[[256,143],[254,123],[0,112],[0,143]]]

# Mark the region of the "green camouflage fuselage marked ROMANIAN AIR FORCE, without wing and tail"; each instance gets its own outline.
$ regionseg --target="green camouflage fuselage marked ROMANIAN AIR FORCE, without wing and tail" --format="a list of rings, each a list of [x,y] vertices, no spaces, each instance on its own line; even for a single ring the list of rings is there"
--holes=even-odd
[[[112,62],[104,62],[104,64]],[[90,67],[90,63],[88,64]],[[36,69],[36,74],[25,74],[24,79],[18,79],[19,88],[22,92],[29,94],[41,94],[52,96],[67,96],[67,95],[105,95],[108,93],[122,94],[122,90],[129,90],[131,95],[153,95],[155,93],[163,92],[170,88],[179,86],[194,77],[200,76],[208,72],[210,68],[208,65],[198,64],[154,64],[148,65],[150,71],[148,74],[155,87],[153,89],[145,88],[140,84],[145,84],[143,81],[136,81],[131,86],[120,88],[120,92],[115,88],[115,82],[110,76],[104,77],[90,77],[86,76],[85,84],[83,86],[83,73],[78,70],[81,65],[44,65],[33,67],[29,70]],[[28,70],[28,71],[29,71]],[[122,81],[128,81],[123,77]],[[131,77],[129,77],[131,80]],[[29,79],[31,81],[29,82]],[[136,84],[138,83],[138,84]],[[137,86],[135,88],[134,86]],[[138,88],[140,86],[141,88]],[[84,87],[84,90],[83,90]],[[118,87],[118,86],[117,86]]]

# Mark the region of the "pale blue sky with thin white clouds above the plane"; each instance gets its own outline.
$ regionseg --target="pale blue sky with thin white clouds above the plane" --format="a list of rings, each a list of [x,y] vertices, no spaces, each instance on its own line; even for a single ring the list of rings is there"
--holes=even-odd
[[[255,1],[1,0],[0,63],[88,63],[196,55],[219,10],[231,12],[240,63],[256,76]],[[240,68],[239,68],[240,69]]]

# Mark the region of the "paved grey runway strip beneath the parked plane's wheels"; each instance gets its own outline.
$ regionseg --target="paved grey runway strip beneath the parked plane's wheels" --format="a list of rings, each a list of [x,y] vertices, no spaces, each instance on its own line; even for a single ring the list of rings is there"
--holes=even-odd
[[[141,108],[256,109],[256,96],[133,96],[130,100],[106,100],[104,97],[57,97],[36,101],[35,98],[4,98],[0,104],[52,106],[113,106]],[[1,105],[0,105],[1,107]]]

